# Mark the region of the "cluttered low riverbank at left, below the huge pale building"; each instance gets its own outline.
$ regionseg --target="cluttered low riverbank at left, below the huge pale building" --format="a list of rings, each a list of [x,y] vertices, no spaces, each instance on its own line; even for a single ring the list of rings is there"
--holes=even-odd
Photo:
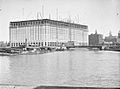
[[[48,52],[56,51],[53,48],[42,47],[42,48],[1,48],[0,56],[17,56],[17,55],[36,55],[36,54],[44,54]]]

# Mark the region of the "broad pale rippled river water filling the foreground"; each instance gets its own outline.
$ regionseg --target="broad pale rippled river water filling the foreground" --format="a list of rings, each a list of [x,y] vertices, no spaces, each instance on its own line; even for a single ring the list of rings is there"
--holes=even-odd
[[[0,84],[120,87],[120,52],[75,49],[0,56]]]

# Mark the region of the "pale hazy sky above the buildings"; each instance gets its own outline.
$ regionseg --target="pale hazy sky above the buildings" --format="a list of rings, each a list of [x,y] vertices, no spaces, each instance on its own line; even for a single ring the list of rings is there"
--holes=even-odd
[[[0,41],[9,41],[11,21],[50,18],[88,26],[89,34],[117,36],[120,0],[0,0]]]

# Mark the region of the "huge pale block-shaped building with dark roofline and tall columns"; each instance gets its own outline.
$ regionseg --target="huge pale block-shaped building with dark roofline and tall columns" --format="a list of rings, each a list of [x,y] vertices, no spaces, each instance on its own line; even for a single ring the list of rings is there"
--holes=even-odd
[[[11,47],[87,45],[88,26],[50,19],[10,22],[9,40]]]

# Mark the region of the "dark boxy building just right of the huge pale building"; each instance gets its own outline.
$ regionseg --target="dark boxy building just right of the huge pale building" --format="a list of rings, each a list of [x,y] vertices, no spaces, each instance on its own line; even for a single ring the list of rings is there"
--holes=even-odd
[[[103,35],[98,34],[97,31],[95,34],[89,35],[89,45],[101,45],[103,43]]]

